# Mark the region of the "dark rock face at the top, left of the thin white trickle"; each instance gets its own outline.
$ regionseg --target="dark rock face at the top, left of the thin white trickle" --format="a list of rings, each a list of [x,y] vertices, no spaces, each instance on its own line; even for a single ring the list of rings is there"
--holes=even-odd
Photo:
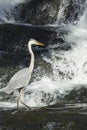
[[[19,21],[44,25],[53,23],[57,19],[61,0],[32,0],[15,7],[19,10]]]

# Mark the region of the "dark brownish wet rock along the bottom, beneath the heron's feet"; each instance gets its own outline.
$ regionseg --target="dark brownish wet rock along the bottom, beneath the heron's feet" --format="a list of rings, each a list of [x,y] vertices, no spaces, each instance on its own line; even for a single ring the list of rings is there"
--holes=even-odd
[[[57,106],[58,108],[58,106]],[[0,111],[0,129],[2,130],[86,130],[87,115],[62,112],[57,108],[19,111]]]

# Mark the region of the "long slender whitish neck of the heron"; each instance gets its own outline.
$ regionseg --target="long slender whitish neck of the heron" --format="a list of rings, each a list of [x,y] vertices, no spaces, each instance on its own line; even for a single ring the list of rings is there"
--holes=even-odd
[[[29,71],[33,71],[33,68],[34,68],[34,53],[32,51],[32,44],[29,44],[28,46],[28,49],[29,49],[29,52],[30,52],[30,55],[31,55],[31,60],[30,60],[30,66],[29,66]]]

